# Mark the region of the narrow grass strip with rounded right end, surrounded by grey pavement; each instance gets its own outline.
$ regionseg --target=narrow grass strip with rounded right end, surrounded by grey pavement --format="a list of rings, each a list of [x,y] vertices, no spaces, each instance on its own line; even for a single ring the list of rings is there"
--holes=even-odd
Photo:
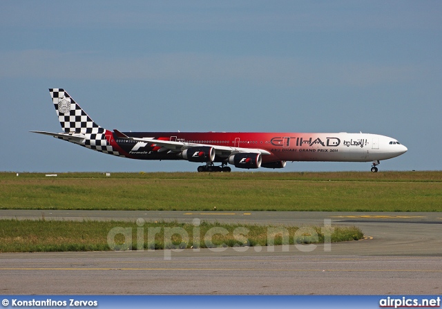
[[[127,238],[122,234],[111,234],[115,228],[129,229]],[[139,228],[136,223],[118,221],[0,220],[0,252],[161,250],[286,244],[278,232],[287,233],[286,241],[290,244],[295,241],[323,243],[325,235],[331,238],[331,242],[363,238],[357,227],[334,227],[333,231],[323,231],[320,227],[302,227],[299,230],[298,227],[202,222],[195,228],[186,223],[162,222],[144,223],[142,229]],[[225,234],[221,234],[220,229]],[[111,246],[109,234],[112,235]]]

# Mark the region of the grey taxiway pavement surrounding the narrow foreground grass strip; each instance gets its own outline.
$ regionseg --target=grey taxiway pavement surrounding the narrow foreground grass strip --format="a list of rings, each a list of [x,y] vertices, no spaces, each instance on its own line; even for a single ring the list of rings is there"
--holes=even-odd
[[[0,210],[0,218],[356,225],[330,250],[276,247],[0,254],[2,294],[441,294],[441,213]],[[326,220],[326,221],[325,221]]]

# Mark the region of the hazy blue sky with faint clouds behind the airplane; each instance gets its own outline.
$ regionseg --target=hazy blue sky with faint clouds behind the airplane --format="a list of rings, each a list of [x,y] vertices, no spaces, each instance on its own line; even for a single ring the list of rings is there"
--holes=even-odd
[[[363,131],[408,147],[381,170],[442,169],[441,16],[441,1],[1,1],[0,171],[198,166],[28,133],[61,131],[48,88],[106,129]]]

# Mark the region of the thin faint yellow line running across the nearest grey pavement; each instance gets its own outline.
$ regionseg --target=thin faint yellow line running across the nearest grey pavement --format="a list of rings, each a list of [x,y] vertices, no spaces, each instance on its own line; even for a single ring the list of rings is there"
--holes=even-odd
[[[0,268],[0,270],[170,270],[170,271],[256,271],[256,272],[442,272],[442,270],[345,270],[345,269],[263,269],[263,268]]]

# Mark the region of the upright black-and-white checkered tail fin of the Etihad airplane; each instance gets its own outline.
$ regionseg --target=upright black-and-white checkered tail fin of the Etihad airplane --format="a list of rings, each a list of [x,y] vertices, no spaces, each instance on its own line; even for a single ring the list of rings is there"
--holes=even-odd
[[[50,97],[57,111],[61,128],[66,133],[103,133],[104,129],[99,127],[88,114],[74,101],[64,89],[50,88]]]

